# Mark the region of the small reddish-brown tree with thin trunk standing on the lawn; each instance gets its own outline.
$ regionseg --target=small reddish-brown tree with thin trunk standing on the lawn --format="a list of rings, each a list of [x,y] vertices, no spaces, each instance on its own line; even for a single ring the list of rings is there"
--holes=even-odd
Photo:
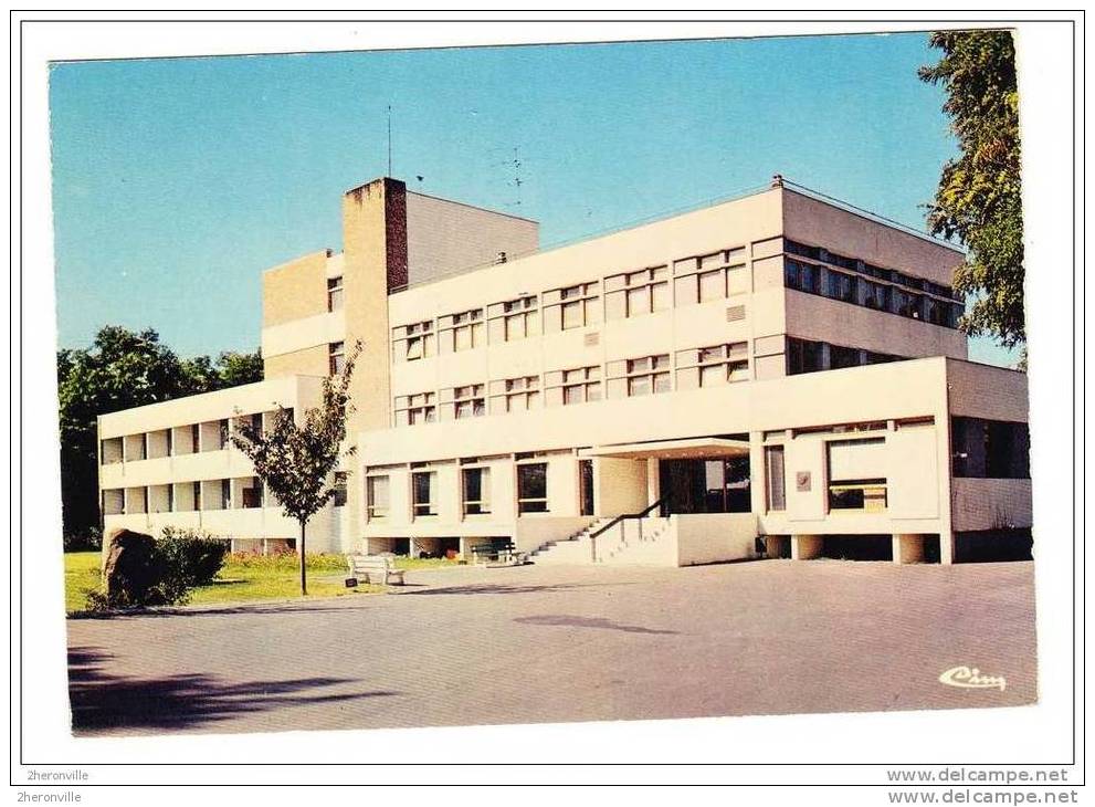
[[[308,594],[305,537],[308,520],[335,495],[335,469],[356,449],[343,449],[346,416],[354,411],[349,397],[354,364],[361,353],[358,342],[343,371],[325,378],[318,407],[305,411],[301,425],[281,407],[269,431],[250,423],[231,440],[254,465],[255,474],[281,503],[282,512],[301,525],[297,555],[301,560],[301,596]]]

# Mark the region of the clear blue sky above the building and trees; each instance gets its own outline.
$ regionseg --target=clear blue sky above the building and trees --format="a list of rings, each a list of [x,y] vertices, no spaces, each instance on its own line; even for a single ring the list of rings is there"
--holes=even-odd
[[[389,104],[396,177],[537,219],[544,244],[775,172],[923,227],[955,149],[916,77],[936,59],[898,34],[55,65],[59,342],[119,324],[185,356],[257,347],[261,272],[341,248]]]

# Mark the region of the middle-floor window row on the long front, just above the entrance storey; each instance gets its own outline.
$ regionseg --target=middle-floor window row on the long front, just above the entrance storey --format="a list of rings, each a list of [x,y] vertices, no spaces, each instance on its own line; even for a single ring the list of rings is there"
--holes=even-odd
[[[604,397],[635,398],[660,395],[676,388],[697,389],[749,380],[748,343],[677,350],[675,367],[670,354],[655,354],[600,365],[550,370],[540,376],[517,376],[470,384],[438,392],[396,396],[396,426],[414,426],[441,420],[461,420],[483,415],[504,415],[539,406],[571,406],[599,401]]]

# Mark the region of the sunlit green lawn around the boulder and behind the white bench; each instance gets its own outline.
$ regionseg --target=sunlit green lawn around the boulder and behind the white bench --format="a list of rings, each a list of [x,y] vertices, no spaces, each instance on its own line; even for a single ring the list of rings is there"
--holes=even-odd
[[[65,610],[85,610],[87,589],[99,586],[99,553],[65,553]],[[346,560],[341,555],[308,556],[308,597],[344,597],[377,594],[383,586],[346,588]],[[296,599],[301,596],[301,572],[296,555],[229,555],[217,579],[191,593],[192,605],[248,602],[263,599]]]

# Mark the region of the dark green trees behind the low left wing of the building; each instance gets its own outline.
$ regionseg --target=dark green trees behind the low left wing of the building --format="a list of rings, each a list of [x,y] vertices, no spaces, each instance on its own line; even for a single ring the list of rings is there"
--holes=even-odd
[[[222,353],[180,359],[151,328],[102,328],[88,348],[57,352],[61,503],[66,537],[98,524],[96,419],[122,409],[262,380],[262,357]]]

